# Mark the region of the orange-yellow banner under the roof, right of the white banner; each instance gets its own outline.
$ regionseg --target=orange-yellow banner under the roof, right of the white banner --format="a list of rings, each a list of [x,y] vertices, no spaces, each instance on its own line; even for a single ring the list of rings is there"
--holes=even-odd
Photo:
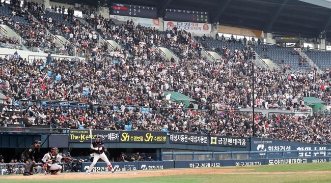
[[[242,36],[252,36],[252,37],[263,37],[263,31],[249,29],[249,28],[238,28],[231,27],[225,25],[218,25],[217,28],[218,33],[227,33],[234,35],[242,35]]]

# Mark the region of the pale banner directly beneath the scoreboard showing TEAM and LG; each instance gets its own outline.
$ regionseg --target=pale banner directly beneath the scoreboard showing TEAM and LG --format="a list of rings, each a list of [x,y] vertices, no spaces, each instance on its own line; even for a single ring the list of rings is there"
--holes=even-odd
[[[131,16],[121,16],[121,15],[109,15],[109,18],[112,19],[116,19],[119,21],[133,21],[135,25],[142,25],[145,27],[152,27],[152,28],[156,28],[159,29],[160,28],[160,23],[159,23],[159,19],[152,19],[152,18],[140,18],[140,17],[131,17]]]

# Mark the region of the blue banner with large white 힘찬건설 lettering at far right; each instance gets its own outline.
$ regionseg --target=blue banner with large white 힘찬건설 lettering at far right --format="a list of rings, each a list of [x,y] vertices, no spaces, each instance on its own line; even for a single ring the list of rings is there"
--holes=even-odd
[[[330,145],[291,142],[285,140],[264,139],[251,137],[251,150],[252,151],[265,151],[265,150],[312,150],[305,153],[286,153],[285,157],[324,157],[326,151],[313,151],[313,150],[326,150],[331,149]],[[254,157],[253,157],[254,155]],[[265,153],[253,154],[252,158],[261,158]],[[268,153],[269,158],[279,158],[281,154]]]

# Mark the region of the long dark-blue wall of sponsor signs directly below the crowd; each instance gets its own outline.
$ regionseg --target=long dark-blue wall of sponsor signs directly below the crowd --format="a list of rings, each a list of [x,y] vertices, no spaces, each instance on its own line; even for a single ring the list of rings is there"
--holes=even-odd
[[[29,146],[34,140],[41,140],[42,148],[57,146],[67,149],[89,149],[91,137],[88,130],[64,130],[67,134],[47,133],[21,133],[23,128],[14,128],[19,132],[0,133],[1,148],[22,148]],[[312,144],[301,142],[290,142],[265,138],[244,138],[231,136],[216,136],[203,134],[187,134],[175,132],[150,132],[150,131],[105,131],[93,130],[92,140],[95,135],[100,135],[105,142],[105,147],[111,149],[151,149],[149,153],[169,153],[169,152],[247,152],[257,151],[258,153],[241,153],[239,157],[233,159],[259,159],[259,158],[310,158],[328,156],[326,150],[331,149],[330,145]],[[261,151],[285,151],[294,150],[292,153],[265,154]],[[298,154],[297,150],[309,150],[308,153]],[[87,150],[88,151],[88,150]],[[136,153],[136,152],[135,152]],[[158,158],[160,158],[158,156]],[[208,157],[207,157],[208,158]],[[203,160],[206,159],[202,158]],[[202,160],[199,159],[199,160]],[[216,157],[216,159],[219,159]],[[226,159],[223,157],[222,159]],[[163,159],[162,159],[163,160]],[[174,160],[168,158],[164,160]],[[185,159],[186,160],[186,159]]]

